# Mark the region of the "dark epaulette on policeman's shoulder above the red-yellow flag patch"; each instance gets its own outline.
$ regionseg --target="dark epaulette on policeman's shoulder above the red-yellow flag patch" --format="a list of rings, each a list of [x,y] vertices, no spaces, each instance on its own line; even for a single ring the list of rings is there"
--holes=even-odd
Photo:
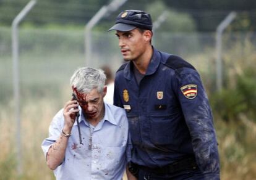
[[[170,55],[169,58],[166,60],[165,65],[169,68],[173,68],[174,70],[178,68],[192,68],[195,70],[195,68],[186,60],[182,59],[181,57],[177,55]]]

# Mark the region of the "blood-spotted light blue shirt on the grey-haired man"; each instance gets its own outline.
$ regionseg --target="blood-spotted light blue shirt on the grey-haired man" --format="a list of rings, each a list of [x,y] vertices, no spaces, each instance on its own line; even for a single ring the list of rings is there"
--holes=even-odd
[[[92,148],[89,148],[90,129],[80,109],[79,125],[82,144],[79,143],[77,123],[74,123],[66,154],[54,170],[56,179],[122,179],[126,166],[128,120],[123,108],[105,104],[105,117],[92,129]],[[64,126],[63,109],[51,121],[49,137],[41,147],[46,153],[59,138]]]

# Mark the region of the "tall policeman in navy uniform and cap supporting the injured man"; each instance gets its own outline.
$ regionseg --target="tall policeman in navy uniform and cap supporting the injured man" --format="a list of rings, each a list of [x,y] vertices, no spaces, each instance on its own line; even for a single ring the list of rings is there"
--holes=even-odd
[[[116,72],[114,105],[129,119],[129,170],[138,179],[220,179],[213,117],[197,70],[151,46],[150,14],[121,12],[116,30],[126,63]]]

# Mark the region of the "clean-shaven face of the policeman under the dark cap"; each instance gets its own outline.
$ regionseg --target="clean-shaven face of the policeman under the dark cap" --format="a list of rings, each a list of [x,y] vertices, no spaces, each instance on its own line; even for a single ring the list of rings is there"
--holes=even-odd
[[[151,34],[150,34],[151,35]],[[147,43],[151,36],[148,31],[140,32],[137,28],[131,31],[116,31],[119,47],[124,60],[137,60],[146,51]]]

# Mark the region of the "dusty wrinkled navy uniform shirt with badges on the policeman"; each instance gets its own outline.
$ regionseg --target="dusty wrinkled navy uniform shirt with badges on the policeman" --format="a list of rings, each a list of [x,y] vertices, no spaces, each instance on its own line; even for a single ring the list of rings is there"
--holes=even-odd
[[[114,105],[126,109],[129,120],[131,161],[161,168],[194,157],[202,173],[218,176],[213,117],[197,70],[156,49],[139,84],[133,68],[131,61],[122,65],[114,85]]]

